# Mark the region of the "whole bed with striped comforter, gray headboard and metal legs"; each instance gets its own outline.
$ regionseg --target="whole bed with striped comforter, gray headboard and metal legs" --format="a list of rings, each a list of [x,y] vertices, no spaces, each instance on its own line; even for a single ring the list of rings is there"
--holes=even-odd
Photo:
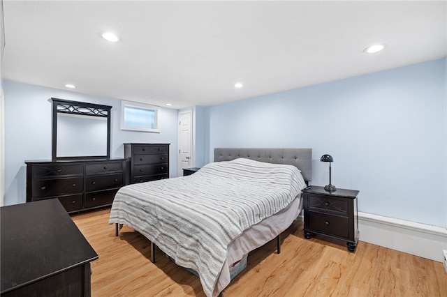
[[[207,296],[230,283],[230,267],[286,230],[302,209],[312,148],[215,148],[190,176],[121,188],[109,223],[140,232],[176,264],[196,271]],[[279,252],[279,239],[278,239]]]

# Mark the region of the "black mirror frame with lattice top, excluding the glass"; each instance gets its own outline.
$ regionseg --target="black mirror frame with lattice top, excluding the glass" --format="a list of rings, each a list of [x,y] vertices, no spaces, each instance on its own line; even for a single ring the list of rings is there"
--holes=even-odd
[[[110,109],[109,105],[78,102],[51,98],[52,100],[52,160],[88,160],[110,158]],[[107,118],[107,154],[106,155],[82,155],[76,157],[57,156],[57,114],[77,114],[83,116],[98,116]]]

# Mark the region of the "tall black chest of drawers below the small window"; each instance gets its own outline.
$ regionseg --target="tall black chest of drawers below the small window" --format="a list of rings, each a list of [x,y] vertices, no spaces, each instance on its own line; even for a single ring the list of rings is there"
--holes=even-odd
[[[124,144],[126,183],[169,178],[169,144]]]

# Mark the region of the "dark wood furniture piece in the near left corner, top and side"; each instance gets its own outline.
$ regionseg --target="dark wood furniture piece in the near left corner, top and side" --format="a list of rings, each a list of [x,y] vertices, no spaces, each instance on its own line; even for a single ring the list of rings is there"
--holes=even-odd
[[[0,210],[1,296],[90,296],[98,254],[58,199]]]

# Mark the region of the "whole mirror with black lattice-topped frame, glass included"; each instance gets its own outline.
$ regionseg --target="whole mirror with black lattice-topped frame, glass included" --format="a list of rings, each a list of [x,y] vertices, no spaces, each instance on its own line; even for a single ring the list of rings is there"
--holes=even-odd
[[[110,158],[110,109],[96,105],[52,99],[52,159]]]

